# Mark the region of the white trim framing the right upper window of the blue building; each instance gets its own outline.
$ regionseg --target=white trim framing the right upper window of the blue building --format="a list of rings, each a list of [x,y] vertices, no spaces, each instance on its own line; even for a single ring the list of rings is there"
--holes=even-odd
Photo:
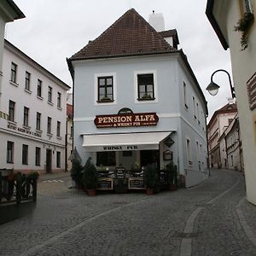
[[[138,74],[147,74],[147,73],[153,73],[154,75],[154,100],[150,101],[138,101],[138,95],[137,95],[137,75]],[[137,70],[133,72],[134,74],[134,102],[136,104],[145,104],[145,103],[157,103],[158,102],[158,90],[157,90],[157,75],[156,70]]]

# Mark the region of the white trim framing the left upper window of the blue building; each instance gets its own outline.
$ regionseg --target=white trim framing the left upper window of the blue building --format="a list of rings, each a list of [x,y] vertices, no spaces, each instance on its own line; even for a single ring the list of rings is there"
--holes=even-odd
[[[99,77],[113,77],[113,102],[97,102],[98,100],[98,78]],[[95,73],[94,74],[94,105],[106,106],[117,104],[117,82],[116,73]]]

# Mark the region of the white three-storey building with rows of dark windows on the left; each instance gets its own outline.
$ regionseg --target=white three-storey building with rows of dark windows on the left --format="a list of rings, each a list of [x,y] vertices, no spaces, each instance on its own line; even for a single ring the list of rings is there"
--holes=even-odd
[[[3,50],[0,166],[27,172],[65,169],[69,86],[7,40]]]

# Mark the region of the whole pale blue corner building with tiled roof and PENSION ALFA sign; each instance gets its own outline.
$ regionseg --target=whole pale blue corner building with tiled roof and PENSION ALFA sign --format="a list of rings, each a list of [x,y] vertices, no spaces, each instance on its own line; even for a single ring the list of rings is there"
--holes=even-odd
[[[83,165],[125,168],[129,188],[132,171],[151,163],[173,161],[187,187],[207,178],[207,102],[177,44],[176,30],[156,32],[130,9],[67,59]]]

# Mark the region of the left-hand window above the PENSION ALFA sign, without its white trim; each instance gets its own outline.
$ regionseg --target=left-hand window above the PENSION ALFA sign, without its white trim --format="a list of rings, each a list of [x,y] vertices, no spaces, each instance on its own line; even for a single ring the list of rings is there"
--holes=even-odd
[[[113,102],[113,76],[98,78],[98,102]]]

